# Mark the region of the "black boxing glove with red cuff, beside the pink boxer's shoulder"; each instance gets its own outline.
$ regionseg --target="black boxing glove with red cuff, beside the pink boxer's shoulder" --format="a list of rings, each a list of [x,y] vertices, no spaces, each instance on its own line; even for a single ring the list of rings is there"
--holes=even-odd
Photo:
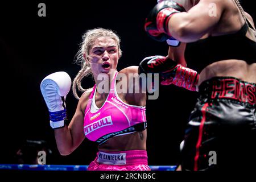
[[[199,74],[165,56],[150,56],[139,63],[139,73],[159,73],[161,85],[181,86],[196,91]]]

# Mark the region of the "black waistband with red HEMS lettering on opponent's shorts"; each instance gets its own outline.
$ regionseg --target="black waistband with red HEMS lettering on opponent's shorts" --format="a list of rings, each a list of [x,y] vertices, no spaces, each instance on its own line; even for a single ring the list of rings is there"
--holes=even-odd
[[[242,105],[255,107],[256,84],[235,77],[213,77],[199,86],[200,98],[209,100],[232,100]]]

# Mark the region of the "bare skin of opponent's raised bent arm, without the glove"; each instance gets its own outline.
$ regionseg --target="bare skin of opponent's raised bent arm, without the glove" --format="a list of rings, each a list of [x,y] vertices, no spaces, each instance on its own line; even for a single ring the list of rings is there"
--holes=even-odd
[[[168,21],[168,34],[181,42],[195,42],[211,31],[225,11],[222,0],[201,0],[188,12],[176,13]]]

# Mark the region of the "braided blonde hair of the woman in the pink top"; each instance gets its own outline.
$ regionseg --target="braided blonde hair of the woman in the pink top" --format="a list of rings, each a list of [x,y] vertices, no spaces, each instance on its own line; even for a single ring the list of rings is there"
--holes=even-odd
[[[80,44],[79,52],[76,54],[76,63],[81,65],[80,71],[77,73],[75,79],[73,80],[72,91],[73,95],[79,100],[80,97],[77,94],[77,89],[80,92],[86,92],[86,90],[81,86],[81,81],[84,77],[92,75],[92,71],[90,69],[89,64],[89,51],[92,48],[93,44],[96,42],[97,38],[102,36],[107,36],[115,40],[117,43],[118,55],[122,56],[122,51],[120,49],[120,38],[114,31],[104,29],[104,28],[94,28],[92,30],[88,30],[82,35],[82,43]]]

